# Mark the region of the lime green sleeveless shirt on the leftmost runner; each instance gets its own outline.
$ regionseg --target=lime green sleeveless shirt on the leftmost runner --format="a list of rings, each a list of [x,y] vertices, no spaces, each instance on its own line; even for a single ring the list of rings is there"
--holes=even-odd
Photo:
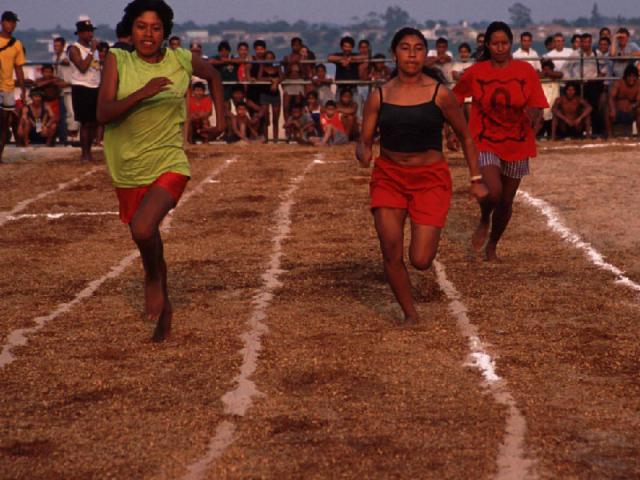
[[[155,77],[168,77],[173,82],[169,90],[147,98],[106,126],[104,153],[113,184],[118,188],[146,186],[167,172],[190,176],[183,125],[191,52],[166,49],[159,63],[147,63],[135,51],[114,48],[110,53],[118,66],[118,100]]]

